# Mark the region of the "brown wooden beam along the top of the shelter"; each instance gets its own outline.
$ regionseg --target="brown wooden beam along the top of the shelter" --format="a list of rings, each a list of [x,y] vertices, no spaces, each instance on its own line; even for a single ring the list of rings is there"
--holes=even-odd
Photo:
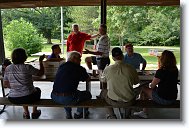
[[[0,8],[100,6],[101,0],[0,0]],[[179,6],[180,0],[107,0],[109,6]]]

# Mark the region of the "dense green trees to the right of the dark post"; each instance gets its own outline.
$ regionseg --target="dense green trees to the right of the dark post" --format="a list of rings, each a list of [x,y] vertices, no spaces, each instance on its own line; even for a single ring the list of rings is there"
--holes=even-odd
[[[180,45],[180,8],[177,6],[109,6],[107,9],[112,45],[120,43],[119,38],[137,45]]]

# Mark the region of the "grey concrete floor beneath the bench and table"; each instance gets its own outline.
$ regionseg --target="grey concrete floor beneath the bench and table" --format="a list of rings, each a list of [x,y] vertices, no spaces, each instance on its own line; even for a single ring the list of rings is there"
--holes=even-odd
[[[40,87],[42,90],[42,96],[41,98],[50,98],[50,93],[52,90],[53,83],[52,82],[34,82],[34,85],[37,87]],[[99,89],[99,82],[92,82],[92,98],[96,98],[96,95],[100,93]],[[180,86],[178,86],[180,88]],[[85,82],[81,82],[79,85],[79,90],[85,90]],[[8,92],[8,89],[6,89],[6,92]],[[0,92],[0,95],[2,93]],[[179,89],[179,95],[180,95],[180,89]],[[180,99],[180,96],[178,97]],[[0,106],[0,109],[2,108],[2,105]],[[39,119],[42,120],[66,120],[65,119],[65,111],[63,108],[59,107],[39,107],[41,109],[42,113]],[[30,111],[32,111],[32,108],[30,107]],[[75,108],[73,108],[74,113],[76,111]],[[105,108],[90,108],[90,115],[89,119],[87,120],[106,120],[106,110]],[[118,109],[114,110],[117,117],[119,118]],[[0,115],[0,119],[6,119],[9,121],[13,120],[22,120],[22,113],[23,109],[19,106],[7,106],[5,109],[5,112],[3,112]],[[181,120],[181,111],[180,109],[148,109],[149,119],[146,120]],[[132,119],[128,120],[141,120],[138,117],[132,116]]]

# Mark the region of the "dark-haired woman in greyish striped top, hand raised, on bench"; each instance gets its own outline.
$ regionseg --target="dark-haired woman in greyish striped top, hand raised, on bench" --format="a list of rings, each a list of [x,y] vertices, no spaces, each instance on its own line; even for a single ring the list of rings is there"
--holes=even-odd
[[[32,103],[40,99],[40,88],[34,87],[32,75],[41,76],[44,74],[43,59],[45,56],[39,57],[40,69],[34,68],[32,65],[24,64],[27,59],[26,52],[23,48],[17,48],[12,52],[12,62],[5,69],[4,86],[10,88],[8,99],[15,104]],[[30,119],[28,106],[23,106],[24,119]],[[37,106],[33,107],[32,119],[37,119],[41,115],[41,111]]]

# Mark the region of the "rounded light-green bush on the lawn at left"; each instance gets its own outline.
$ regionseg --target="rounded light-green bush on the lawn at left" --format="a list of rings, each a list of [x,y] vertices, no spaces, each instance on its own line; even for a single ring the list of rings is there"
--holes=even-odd
[[[4,29],[6,48],[24,48],[28,55],[41,51],[42,37],[40,37],[31,23],[23,19],[13,20]]]

